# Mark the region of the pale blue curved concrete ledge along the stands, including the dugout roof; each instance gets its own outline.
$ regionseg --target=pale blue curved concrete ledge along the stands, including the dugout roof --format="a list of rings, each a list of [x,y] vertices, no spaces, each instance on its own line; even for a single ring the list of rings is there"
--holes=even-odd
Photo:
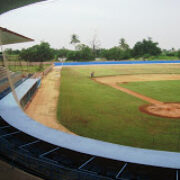
[[[16,89],[21,99],[38,79],[28,79]],[[48,128],[28,117],[10,93],[0,101],[0,115],[10,125],[48,143],[74,151],[114,160],[180,169],[180,153],[122,146]]]

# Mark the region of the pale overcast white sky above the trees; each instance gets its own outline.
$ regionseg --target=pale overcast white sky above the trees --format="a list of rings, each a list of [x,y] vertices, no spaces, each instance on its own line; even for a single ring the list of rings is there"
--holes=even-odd
[[[5,46],[22,49],[41,41],[53,48],[70,48],[71,35],[101,48],[117,46],[120,38],[133,47],[152,37],[165,49],[180,49],[180,0],[49,0],[0,16],[0,26],[35,39]]]

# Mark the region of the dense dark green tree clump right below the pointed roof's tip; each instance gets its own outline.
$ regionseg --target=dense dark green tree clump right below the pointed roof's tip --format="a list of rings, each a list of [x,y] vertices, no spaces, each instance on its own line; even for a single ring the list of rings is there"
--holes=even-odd
[[[40,45],[22,49],[20,53],[20,58],[29,62],[51,61],[53,57],[53,50],[47,42],[41,42]]]

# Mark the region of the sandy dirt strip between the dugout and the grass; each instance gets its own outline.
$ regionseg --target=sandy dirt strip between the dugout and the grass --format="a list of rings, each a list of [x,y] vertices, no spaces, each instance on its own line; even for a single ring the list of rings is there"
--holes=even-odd
[[[32,119],[45,126],[73,134],[67,128],[58,123],[56,119],[60,71],[61,67],[54,67],[53,70],[43,78],[40,88],[25,112]]]

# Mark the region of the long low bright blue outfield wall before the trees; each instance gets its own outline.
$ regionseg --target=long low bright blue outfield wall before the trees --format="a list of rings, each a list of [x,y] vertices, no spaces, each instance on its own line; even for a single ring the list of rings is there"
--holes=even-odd
[[[152,60],[152,61],[90,61],[90,62],[55,62],[55,66],[80,66],[80,65],[113,65],[113,64],[166,64],[180,63],[180,60]]]

